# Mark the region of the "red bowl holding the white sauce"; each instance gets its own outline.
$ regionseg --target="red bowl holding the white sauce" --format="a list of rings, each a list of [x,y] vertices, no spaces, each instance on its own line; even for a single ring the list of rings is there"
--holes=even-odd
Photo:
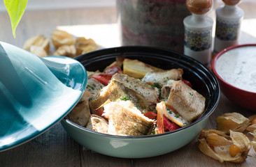
[[[256,91],[238,88],[237,86],[230,84],[230,82],[228,83],[227,80],[220,77],[221,71],[216,70],[216,66],[218,64],[218,58],[227,54],[228,52],[230,53],[230,51],[232,50],[234,51],[234,49],[245,49],[245,48],[255,49],[254,52],[256,53],[256,44],[248,44],[248,45],[236,45],[236,46],[228,47],[227,49],[223,49],[218,54],[216,54],[212,61],[213,73],[218,78],[218,81],[220,84],[220,90],[230,101],[238,104],[239,106],[242,106],[245,109],[256,111]],[[237,67],[239,68],[239,65]],[[256,65],[251,70],[255,70],[255,69],[256,69]],[[231,72],[230,74],[232,73],[234,74],[234,72]]]

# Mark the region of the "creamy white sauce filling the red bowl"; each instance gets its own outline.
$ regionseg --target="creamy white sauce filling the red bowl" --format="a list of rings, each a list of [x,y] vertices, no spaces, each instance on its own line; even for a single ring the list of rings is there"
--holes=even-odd
[[[215,70],[227,83],[256,93],[256,47],[239,47],[222,54]]]

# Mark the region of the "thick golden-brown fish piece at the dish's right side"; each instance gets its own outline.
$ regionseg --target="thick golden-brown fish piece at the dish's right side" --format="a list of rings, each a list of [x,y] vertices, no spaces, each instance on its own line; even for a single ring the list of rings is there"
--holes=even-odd
[[[164,86],[162,95],[167,94],[169,96],[165,103],[175,109],[188,122],[199,118],[204,112],[205,97],[187,86],[183,81],[173,81],[169,86]]]

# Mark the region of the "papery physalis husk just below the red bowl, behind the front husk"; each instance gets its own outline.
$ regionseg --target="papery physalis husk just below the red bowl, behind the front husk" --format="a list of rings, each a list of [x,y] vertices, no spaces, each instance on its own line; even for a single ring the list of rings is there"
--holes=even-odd
[[[235,132],[243,132],[250,125],[250,120],[240,113],[224,113],[216,118],[217,130],[229,134],[229,129]]]

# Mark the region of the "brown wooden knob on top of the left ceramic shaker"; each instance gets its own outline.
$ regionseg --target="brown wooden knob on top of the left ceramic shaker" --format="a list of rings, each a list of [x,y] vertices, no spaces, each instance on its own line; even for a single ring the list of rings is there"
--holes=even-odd
[[[227,0],[223,0],[223,1],[227,1]],[[235,0],[229,0],[229,1],[235,1]],[[186,6],[191,13],[194,13],[197,15],[203,15],[207,13],[209,10],[211,10],[212,0],[187,0]]]

